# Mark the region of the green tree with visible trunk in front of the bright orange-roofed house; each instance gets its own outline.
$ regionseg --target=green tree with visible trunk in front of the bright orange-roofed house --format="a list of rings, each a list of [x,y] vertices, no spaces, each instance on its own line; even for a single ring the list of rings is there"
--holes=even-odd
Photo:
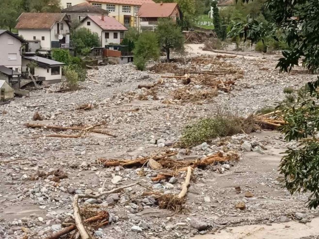
[[[181,29],[176,24],[167,18],[162,18],[158,22],[156,33],[159,38],[159,45],[166,52],[167,62],[170,61],[171,49],[183,50],[184,49],[184,36]]]

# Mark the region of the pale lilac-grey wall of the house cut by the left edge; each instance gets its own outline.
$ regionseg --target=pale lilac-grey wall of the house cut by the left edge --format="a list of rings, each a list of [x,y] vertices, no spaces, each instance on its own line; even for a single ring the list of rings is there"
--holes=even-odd
[[[0,35],[0,65],[21,72],[21,45],[22,43],[18,39],[7,33]],[[9,60],[8,54],[16,54],[16,60]]]

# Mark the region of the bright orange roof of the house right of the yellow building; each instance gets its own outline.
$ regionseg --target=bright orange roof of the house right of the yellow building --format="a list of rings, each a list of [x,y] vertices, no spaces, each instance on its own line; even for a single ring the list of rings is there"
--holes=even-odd
[[[140,17],[168,17],[174,12],[177,3],[144,3],[139,12]]]

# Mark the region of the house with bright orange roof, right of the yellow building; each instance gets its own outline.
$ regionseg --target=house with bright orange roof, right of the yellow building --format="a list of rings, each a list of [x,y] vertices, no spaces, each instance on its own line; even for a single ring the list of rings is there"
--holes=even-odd
[[[157,25],[161,17],[171,18],[176,22],[182,17],[182,12],[177,3],[144,3],[138,12],[138,17],[140,28],[152,27]]]

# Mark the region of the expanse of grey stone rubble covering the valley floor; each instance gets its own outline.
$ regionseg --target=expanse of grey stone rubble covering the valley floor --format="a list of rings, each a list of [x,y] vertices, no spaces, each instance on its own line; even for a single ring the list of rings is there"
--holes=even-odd
[[[191,56],[191,53],[188,57]],[[147,188],[164,194],[178,193],[183,177],[151,181],[160,169],[150,163],[143,169],[121,166],[103,168],[98,158],[135,159],[145,157],[162,147],[177,150],[172,159],[202,159],[217,152],[240,152],[239,162],[215,163],[195,169],[186,197],[188,211],[173,215],[161,210],[152,196],[142,197],[146,189],[139,186],[98,199],[83,200],[81,205],[106,208],[110,225],[97,228],[97,238],[188,239],[197,234],[216,233],[226,226],[253,223],[288,222],[294,215],[301,223],[316,216],[307,210],[307,195],[291,196],[282,189],[277,169],[263,172],[262,165],[249,163],[272,157],[286,143],[279,134],[259,131],[217,138],[192,147],[176,148],[175,143],[186,124],[200,117],[214,115],[220,108],[247,116],[262,107],[270,107],[284,98],[285,87],[298,88],[314,79],[313,75],[279,74],[276,62],[240,57],[220,59],[240,67],[242,79],[236,80],[230,93],[219,92],[205,104],[163,104],[163,97],[180,85],[177,79],[165,80],[159,99],[131,100],[129,92],[141,93],[139,84],[160,79],[159,74],[140,72],[132,64],[106,65],[89,70],[91,81],[81,83],[76,92],[53,93],[60,84],[31,93],[29,98],[16,98],[0,106],[0,238],[17,239],[29,235],[43,239],[62,229],[61,223],[74,223],[71,203],[74,194],[98,193],[140,181]],[[260,70],[264,65],[268,70]],[[199,65],[201,70],[211,65]],[[194,88],[200,90],[200,85]],[[89,111],[76,110],[92,103]],[[107,129],[117,137],[86,134],[78,139],[46,137],[45,128],[27,128],[33,114],[44,116],[43,124],[61,126],[94,125],[107,122]],[[258,161],[259,162],[259,161]],[[63,169],[67,178],[53,181],[53,176],[31,180],[38,172]],[[255,172],[260,172],[255,175]],[[240,185],[237,193],[235,186]],[[250,192],[251,194],[248,194]],[[253,192],[253,193],[252,193]],[[289,203],[287,203],[289,201]],[[276,202],[276,203],[274,203]],[[239,209],[237,209],[239,208]],[[25,229],[22,229],[25,228]]]

